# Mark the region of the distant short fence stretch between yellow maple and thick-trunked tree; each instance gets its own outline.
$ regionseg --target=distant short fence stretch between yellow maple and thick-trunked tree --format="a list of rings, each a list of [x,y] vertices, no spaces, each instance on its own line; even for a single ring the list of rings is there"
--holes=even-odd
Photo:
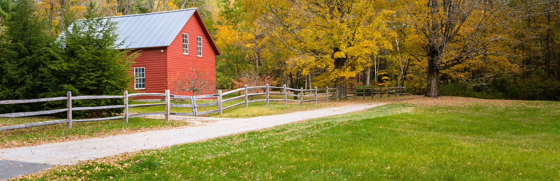
[[[396,95],[406,95],[407,94],[407,87],[380,87],[380,88],[357,88],[357,87],[347,87],[347,93],[352,95],[347,95],[347,97],[354,98],[357,100],[358,98],[366,99],[366,97],[371,97],[374,99],[374,96],[379,96],[383,98],[383,96],[396,96]],[[350,91],[354,90],[354,91]],[[361,90],[361,91],[358,91]],[[374,91],[377,90],[377,91]]]

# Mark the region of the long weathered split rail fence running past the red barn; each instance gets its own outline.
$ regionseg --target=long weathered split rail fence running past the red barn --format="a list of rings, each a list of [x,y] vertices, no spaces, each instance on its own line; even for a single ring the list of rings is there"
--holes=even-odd
[[[263,92],[257,91],[257,93],[249,93],[250,90],[257,90],[257,89],[264,89]],[[270,89],[277,89],[281,90],[281,92],[271,92]],[[288,90],[298,92],[298,94],[290,94]],[[218,90],[218,94],[207,94],[207,95],[195,95],[195,96],[185,96],[185,95],[172,95],[170,94],[169,90],[165,90],[165,94],[160,93],[136,93],[136,94],[128,94],[127,91],[124,91],[124,95],[115,95],[115,96],[72,96],[72,92],[67,92],[66,97],[58,97],[58,98],[44,98],[44,99],[27,99],[27,100],[2,100],[0,104],[21,104],[21,103],[38,103],[38,102],[45,102],[45,101],[59,101],[59,100],[66,100],[67,108],[65,109],[55,109],[55,110],[44,110],[39,112],[21,112],[21,113],[7,113],[7,114],[0,114],[0,118],[16,118],[16,117],[26,117],[26,116],[34,116],[34,115],[45,115],[45,114],[53,114],[53,113],[62,113],[66,112],[67,117],[66,119],[58,119],[58,120],[48,120],[44,122],[35,122],[35,123],[25,123],[25,124],[16,124],[12,126],[4,126],[0,127],[0,131],[9,130],[9,129],[20,129],[20,128],[29,128],[29,127],[36,127],[36,126],[46,126],[50,124],[62,124],[66,123],[68,128],[72,128],[73,122],[89,122],[89,121],[97,121],[97,120],[109,120],[109,119],[120,119],[124,118],[124,122],[128,123],[128,118],[134,117],[141,117],[145,115],[165,115],[165,120],[169,120],[169,115],[201,115],[201,114],[209,114],[209,113],[218,113],[222,114],[223,110],[234,108],[235,106],[245,105],[245,108],[248,107],[249,103],[255,103],[260,101],[266,101],[266,104],[269,105],[269,101],[283,101],[284,104],[287,104],[288,101],[298,102],[300,105],[303,105],[304,102],[314,101],[317,104],[319,100],[325,100],[326,103],[329,102],[329,99],[337,99],[338,101],[338,91],[330,92],[332,90],[337,90],[336,88],[329,88],[328,86],[325,88],[317,89],[291,89],[290,87],[274,87],[269,86],[268,83],[266,86],[256,86],[256,87],[248,87],[245,85],[244,88],[236,89],[232,91],[223,92]],[[242,91],[244,94],[235,96],[232,98],[222,99],[223,96],[234,94],[237,92]],[[309,94],[306,94],[309,93]],[[319,93],[324,92],[324,93]],[[258,95],[265,95],[265,99],[257,99],[257,100],[249,100],[251,96],[258,96]],[[270,95],[283,95],[283,99],[270,99]],[[318,99],[318,95],[325,95],[325,98]],[[153,104],[128,104],[128,99],[133,98],[136,96],[162,96],[165,98],[165,103],[153,103]],[[288,96],[294,96],[298,99],[288,99]],[[304,97],[310,96],[313,99],[304,100]],[[216,101],[209,102],[209,103],[197,103],[197,99],[202,98],[216,98]],[[124,105],[109,105],[109,106],[93,106],[93,107],[72,107],[72,100],[81,100],[81,99],[124,99]],[[188,99],[190,100],[190,104],[173,104],[171,103],[171,99]],[[230,106],[223,107],[222,104],[226,103],[227,101],[232,101],[236,99],[244,99],[244,101],[240,103],[236,103]],[[189,103],[189,101],[188,101]],[[143,108],[148,106],[158,106],[158,105],[165,105],[165,112],[151,112],[151,113],[136,113],[136,114],[129,114],[128,108]],[[206,111],[198,111],[198,107],[200,106],[211,106],[216,105],[216,109],[213,110],[206,110]],[[192,108],[192,112],[171,112],[171,107],[190,107]],[[116,108],[124,108],[124,114],[122,116],[117,117],[107,117],[107,118],[94,118],[94,119],[73,119],[72,118],[72,111],[73,110],[96,110],[96,109],[116,109]]]

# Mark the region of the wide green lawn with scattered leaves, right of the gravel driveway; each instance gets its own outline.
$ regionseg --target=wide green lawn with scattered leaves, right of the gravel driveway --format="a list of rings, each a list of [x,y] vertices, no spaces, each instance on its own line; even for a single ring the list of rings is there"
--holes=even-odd
[[[560,103],[394,103],[21,180],[559,180]]]

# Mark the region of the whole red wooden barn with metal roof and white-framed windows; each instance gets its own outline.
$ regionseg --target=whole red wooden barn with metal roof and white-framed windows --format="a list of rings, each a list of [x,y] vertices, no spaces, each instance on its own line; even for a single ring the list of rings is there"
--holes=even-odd
[[[140,54],[132,64],[134,89],[156,93],[171,90],[173,94],[172,78],[178,73],[192,74],[193,69],[206,73],[205,78],[216,87],[216,55],[220,50],[197,8],[106,18],[118,22],[119,39],[125,42],[120,49],[135,49]],[[207,92],[213,93],[214,89]]]

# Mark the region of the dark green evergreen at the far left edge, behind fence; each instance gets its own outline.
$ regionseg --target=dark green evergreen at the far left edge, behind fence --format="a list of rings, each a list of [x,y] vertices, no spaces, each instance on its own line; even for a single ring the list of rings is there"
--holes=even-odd
[[[49,42],[43,21],[30,0],[0,1],[0,18],[6,27],[0,34],[0,100],[36,99],[45,91],[41,70],[47,62],[38,57]],[[0,112],[37,109],[35,104],[0,106]]]

